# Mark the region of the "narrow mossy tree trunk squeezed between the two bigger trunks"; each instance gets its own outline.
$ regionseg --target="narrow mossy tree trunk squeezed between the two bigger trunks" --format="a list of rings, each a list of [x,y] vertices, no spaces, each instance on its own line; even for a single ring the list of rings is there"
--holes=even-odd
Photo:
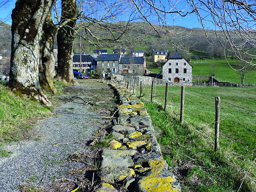
[[[57,28],[51,20],[51,13],[49,13],[43,26],[39,60],[39,82],[43,89],[51,92],[52,94],[57,93],[53,84],[53,78],[55,75],[55,57],[53,49],[56,32]]]

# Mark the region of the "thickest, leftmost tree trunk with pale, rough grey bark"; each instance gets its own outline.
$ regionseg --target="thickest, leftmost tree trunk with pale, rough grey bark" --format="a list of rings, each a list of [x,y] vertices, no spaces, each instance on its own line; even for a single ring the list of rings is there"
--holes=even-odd
[[[12,13],[12,54],[9,87],[45,105],[52,105],[39,84],[39,42],[53,0],[17,1]]]

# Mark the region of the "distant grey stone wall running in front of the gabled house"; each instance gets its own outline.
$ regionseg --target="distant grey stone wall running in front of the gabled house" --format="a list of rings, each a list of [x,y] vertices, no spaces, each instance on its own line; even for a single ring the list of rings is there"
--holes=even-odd
[[[162,79],[156,79],[154,77],[147,77],[147,76],[134,76],[134,75],[118,75],[118,74],[111,74],[110,77],[108,77],[108,80],[110,80],[111,83],[125,85],[129,81],[130,85],[133,85],[133,82],[135,80],[135,85],[140,85],[142,82],[142,85],[152,85],[152,81],[154,81],[155,85],[165,85],[166,82]],[[175,82],[169,82],[169,86],[192,86],[192,83],[175,83]]]

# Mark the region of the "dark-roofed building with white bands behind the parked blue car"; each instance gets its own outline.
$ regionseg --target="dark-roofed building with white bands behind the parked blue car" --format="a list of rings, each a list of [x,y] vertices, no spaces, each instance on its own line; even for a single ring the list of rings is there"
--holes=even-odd
[[[94,70],[97,64],[97,59],[91,55],[81,55],[81,70],[80,72],[89,72]],[[73,69],[80,70],[80,55],[73,56]]]

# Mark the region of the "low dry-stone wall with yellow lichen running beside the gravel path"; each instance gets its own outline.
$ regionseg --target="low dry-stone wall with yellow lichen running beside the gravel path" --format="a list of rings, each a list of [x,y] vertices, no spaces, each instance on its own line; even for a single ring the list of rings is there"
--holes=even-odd
[[[118,93],[119,110],[116,125],[111,128],[116,139],[110,142],[110,149],[101,152],[97,175],[102,184],[96,191],[117,192],[114,182],[129,192],[180,192],[163,159],[144,103],[120,84],[98,81],[111,85]]]

